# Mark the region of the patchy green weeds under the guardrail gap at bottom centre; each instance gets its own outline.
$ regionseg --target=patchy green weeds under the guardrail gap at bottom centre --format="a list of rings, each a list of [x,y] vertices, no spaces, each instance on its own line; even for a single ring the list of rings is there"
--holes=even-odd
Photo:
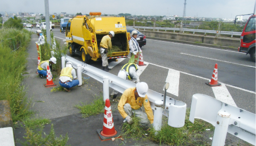
[[[153,128],[143,129],[138,119],[133,118],[133,124],[123,124],[122,136],[134,140],[149,139],[158,144],[167,145],[210,145],[204,142],[202,133],[205,132],[205,129],[214,130],[214,126],[199,119],[195,119],[194,124],[192,124],[189,121],[189,113],[187,110],[185,125],[182,128],[169,126],[167,118],[163,118],[162,128],[158,132]]]

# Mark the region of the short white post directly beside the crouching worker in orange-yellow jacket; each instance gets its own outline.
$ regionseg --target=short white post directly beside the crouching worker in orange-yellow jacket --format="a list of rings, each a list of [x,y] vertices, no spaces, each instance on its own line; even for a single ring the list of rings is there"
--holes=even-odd
[[[157,100],[154,102],[154,123],[153,127],[154,130],[159,131],[161,130],[162,126],[162,116],[163,116],[163,101],[162,100]],[[157,134],[157,132],[155,133]]]

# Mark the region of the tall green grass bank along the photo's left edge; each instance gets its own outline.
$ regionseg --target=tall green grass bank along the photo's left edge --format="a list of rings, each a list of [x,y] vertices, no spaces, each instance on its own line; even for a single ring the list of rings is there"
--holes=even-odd
[[[13,123],[33,114],[29,110],[31,100],[25,96],[26,88],[22,85],[22,73],[26,70],[27,63],[26,47],[30,42],[30,35],[31,33],[26,30],[0,29],[0,100],[9,101]],[[18,50],[14,51],[13,47],[10,47],[13,44],[8,38],[16,40],[15,45],[20,46]]]

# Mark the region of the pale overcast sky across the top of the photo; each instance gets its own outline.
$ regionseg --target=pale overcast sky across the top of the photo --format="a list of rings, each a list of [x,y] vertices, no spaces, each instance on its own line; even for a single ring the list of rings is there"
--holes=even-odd
[[[183,16],[184,0],[49,0],[50,14],[66,12],[88,14],[102,12],[102,14],[130,13],[132,15]],[[253,13],[255,0],[187,0],[186,16],[235,18],[238,14]],[[1,1],[0,13],[43,13],[45,1],[41,0],[8,0]]]

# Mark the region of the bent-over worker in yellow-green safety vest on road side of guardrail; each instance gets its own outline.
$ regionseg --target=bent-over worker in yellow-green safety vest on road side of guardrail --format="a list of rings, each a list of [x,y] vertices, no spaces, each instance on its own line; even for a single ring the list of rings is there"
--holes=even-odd
[[[134,83],[139,82],[139,76],[137,75],[136,71],[138,71],[138,65],[133,63],[128,63],[122,66],[121,70],[118,72],[118,77],[124,80],[130,80]],[[113,90],[110,95],[113,95],[113,99],[117,98],[118,91]]]

